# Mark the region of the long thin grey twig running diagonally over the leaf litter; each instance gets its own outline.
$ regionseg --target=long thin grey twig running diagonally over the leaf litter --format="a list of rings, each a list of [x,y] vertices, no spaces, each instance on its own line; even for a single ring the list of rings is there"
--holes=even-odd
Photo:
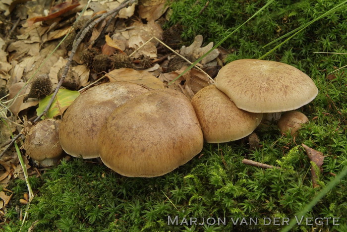
[[[116,13],[116,12],[118,13],[120,9],[122,9],[122,8],[124,8],[124,7],[127,7],[127,6],[130,6],[130,5],[131,5],[132,3],[134,3],[135,1],[137,1],[137,0],[125,0],[125,1],[122,2],[122,4],[120,4],[120,5],[119,5],[118,7],[116,7],[115,9],[110,10],[109,12],[102,14],[102,16],[98,16],[98,17],[100,17],[98,20],[93,21],[93,20],[94,20],[94,17],[96,17],[96,16],[93,17],[93,20],[88,20],[88,22],[89,22],[89,21],[93,21],[93,22],[89,23],[89,25],[88,25],[88,22],[87,22],[86,24],[87,24],[88,26],[84,26],[84,30],[83,30],[83,31],[81,30],[82,32],[80,31],[81,33],[78,33],[78,34],[77,34],[77,36],[79,36],[79,37],[77,38],[77,36],[76,36],[77,39],[75,38],[75,41],[74,41],[73,46],[72,46],[71,54],[70,54],[69,59],[67,60],[67,62],[66,62],[66,64],[65,64],[64,71],[63,71],[63,73],[62,73],[62,75],[61,75],[60,81],[58,82],[58,85],[57,85],[57,87],[56,87],[56,90],[54,91],[53,96],[52,96],[50,102],[48,103],[46,109],[44,110],[44,112],[43,112],[41,115],[39,115],[39,116],[33,121],[33,123],[35,123],[35,122],[37,122],[38,120],[40,120],[40,118],[41,118],[42,116],[46,115],[47,112],[48,112],[48,110],[51,108],[51,105],[52,105],[54,99],[56,98],[56,96],[57,96],[57,94],[58,94],[58,90],[59,90],[59,88],[60,88],[60,86],[61,86],[63,80],[64,80],[65,77],[66,77],[67,71],[69,70],[70,64],[71,64],[71,62],[72,62],[72,58],[73,58],[73,56],[75,55],[78,46],[80,45],[80,43],[82,42],[82,40],[84,39],[84,37],[86,36],[86,34],[89,32],[89,30],[91,30],[91,29],[92,29],[97,23],[99,23],[100,21],[104,20],[105,18],[107,18],[108,16],[110,16],[110,15]],[[96,17],[96,18],[98,18],[98,17]],[[8,150],[8,148],[9,148],[9,147],[21,136],[21,135],[22,135],[22,133],[19,133],[19,134],[17,134],[17,135],[12,139],[12,141],[10,142],[10,144],[9,144],[9,145],[5,148],[5,150],[0,154],[0,158],[3,156],[3,154],[5,154],[5,152]]]

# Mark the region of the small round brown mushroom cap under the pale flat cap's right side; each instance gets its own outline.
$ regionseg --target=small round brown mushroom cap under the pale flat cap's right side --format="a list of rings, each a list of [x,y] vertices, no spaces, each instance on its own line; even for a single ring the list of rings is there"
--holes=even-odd
[[[304,114],[298,111],[290,111],[282,115],[277,126],[280,128],[282,134],[290,131],[290,134],[293,135],[302,127],[302,123],[306,122],[308,122],[308,118]]]

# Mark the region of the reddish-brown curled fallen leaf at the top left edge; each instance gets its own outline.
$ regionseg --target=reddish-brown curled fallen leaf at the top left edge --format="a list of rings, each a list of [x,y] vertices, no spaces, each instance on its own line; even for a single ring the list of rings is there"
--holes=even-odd
[[[71,2],[62,2],[58,5],[53,6],[50,9],[50,13],[47,16],[38,16],[28,19],[28,25],[31,26],[36,22],[45,21],[49,19],[57,18],[58,16],[62,15],[63,13],[79,6],[79,3],[77,0],[72,0]]]

